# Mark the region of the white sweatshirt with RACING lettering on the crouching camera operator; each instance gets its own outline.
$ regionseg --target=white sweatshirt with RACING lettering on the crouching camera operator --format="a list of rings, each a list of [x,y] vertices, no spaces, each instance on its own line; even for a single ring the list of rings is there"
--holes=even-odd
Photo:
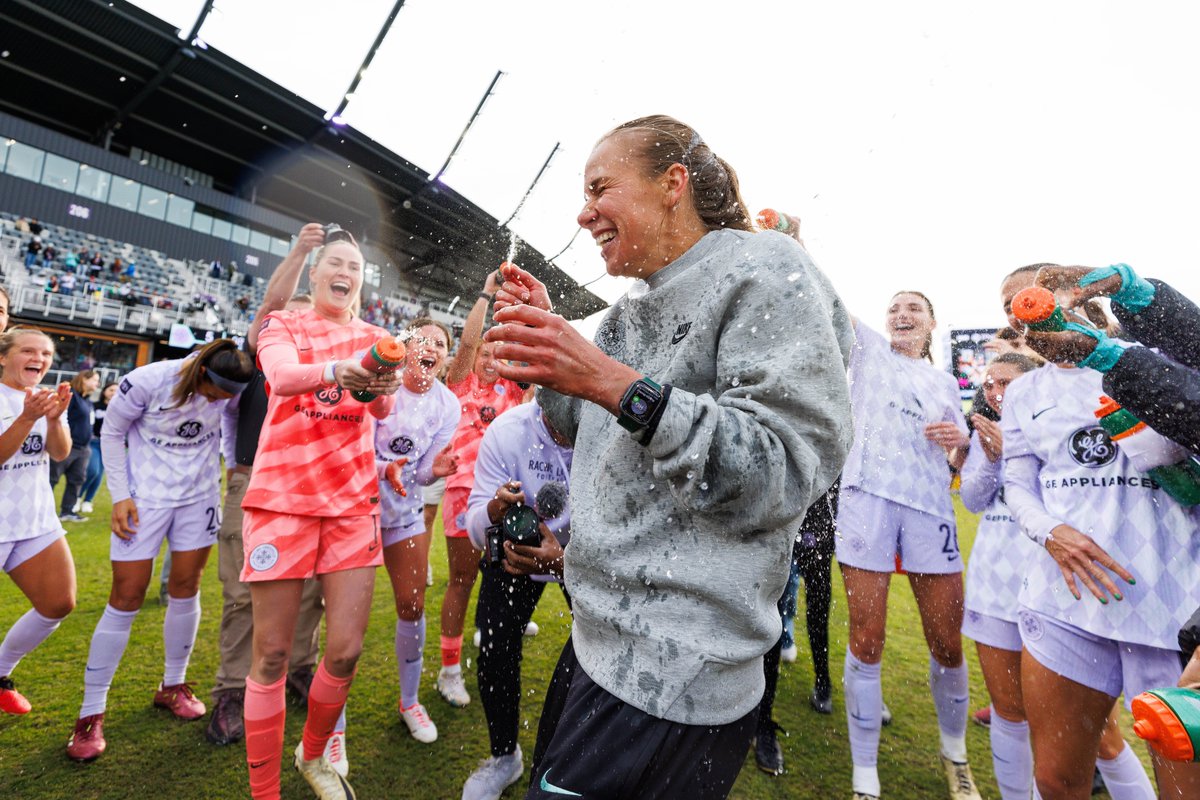
[[[475,482],[467,499],[467,533],[480,546],[487,518],[487,504],[496,489],[508,481],[521,481],[526,503],[563,546],[570,539],[571,510],[568,503],[571,475],[571,447],[556,443],[545,421],[541,407],[524,403],[496,417],[484,434],[475,459]]]

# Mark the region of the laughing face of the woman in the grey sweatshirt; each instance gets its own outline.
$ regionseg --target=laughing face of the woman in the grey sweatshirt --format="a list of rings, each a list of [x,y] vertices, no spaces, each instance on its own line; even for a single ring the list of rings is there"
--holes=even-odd
[[[577,222],[600,246],[608,275],[644,278],[672,260],[662,228],[673,199],[665,180],[646,173],[634,132],[598,144],[583,169]]]

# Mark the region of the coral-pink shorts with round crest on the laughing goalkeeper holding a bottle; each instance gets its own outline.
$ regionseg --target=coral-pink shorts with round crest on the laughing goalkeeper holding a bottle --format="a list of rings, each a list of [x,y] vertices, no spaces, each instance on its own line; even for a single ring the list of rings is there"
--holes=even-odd
[[[242,581],[311,578],[383,564],[379,517],[304,517],[245,509]]]

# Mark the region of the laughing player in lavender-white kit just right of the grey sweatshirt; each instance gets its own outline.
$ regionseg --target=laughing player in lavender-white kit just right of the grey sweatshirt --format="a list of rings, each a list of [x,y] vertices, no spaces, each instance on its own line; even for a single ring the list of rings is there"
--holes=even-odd
[[[950,796],[967,800],[979,795],[967,765],[962,557],[947,463],[965,455],[966,421],[958,383],[931,363],[937,323],[929,299],[919,291],[896,293],[886,323],[887,338],[854,323],[854,445],[838,507],[838,561],[850,607],[844,680],[853,790],[859,799],[880,796],[880,675],[888,583],[899,565],[908,575],[929,645],[942,768]]]

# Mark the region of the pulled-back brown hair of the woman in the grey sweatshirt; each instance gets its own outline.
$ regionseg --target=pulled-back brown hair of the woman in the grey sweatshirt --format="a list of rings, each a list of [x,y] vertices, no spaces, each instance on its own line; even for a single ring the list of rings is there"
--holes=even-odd
[[[686,168],[692,205],[706,228],[754,230],[754,221],[742,200],[737,173],[713,152],[694,128],[674,118],[655,114],[618,125],[600,140],[626,131],[646,134],[638,156],[650,176],[662,175],[673,164]]]

